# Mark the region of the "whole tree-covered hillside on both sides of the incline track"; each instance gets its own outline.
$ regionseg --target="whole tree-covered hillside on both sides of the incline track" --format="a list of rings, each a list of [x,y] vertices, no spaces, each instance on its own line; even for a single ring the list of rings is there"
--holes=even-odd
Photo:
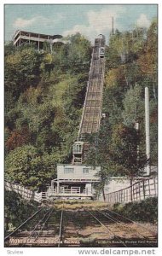
[[[77,137],[91,46],[80,34],[68,40],[69,44],[55,46],[52,54],[48,44],[41,52],[34,45],[5,45],[5,177],[32,189],[43,189],[56,177],[57,163],[69,163]],[[95,147],[91,137],[87,161],[103,167],[101,177],[135,176],[146,164],[145,86],[150,92],[151,164],[156,165],[156,21],[148,31],[136,28],[110,36],[103,94],[107,117]]]

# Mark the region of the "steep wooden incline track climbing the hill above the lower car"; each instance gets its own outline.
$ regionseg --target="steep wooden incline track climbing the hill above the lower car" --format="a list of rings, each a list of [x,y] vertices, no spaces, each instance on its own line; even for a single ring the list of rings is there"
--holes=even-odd
[[[100,128],[101,100],[105,68],[105,60],[103,58],[104,46],[105,37],[103,35],[100,35],[99,38],[95,38],[95,46],[90,64],[90,77],[78,138],[81,138],[85,133],[95,133],[99,131]]]

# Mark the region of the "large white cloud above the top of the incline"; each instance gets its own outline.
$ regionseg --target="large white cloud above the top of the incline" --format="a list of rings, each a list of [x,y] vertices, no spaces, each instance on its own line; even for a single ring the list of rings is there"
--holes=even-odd
[[[115,26],[118,26],[116,20],[124,11],[125,9],[122,6],[118,6],[118,8],[113,6],[101,9],[100,11],[90,11],[87,13],[88,26],[75,25],[72,29],[63,32],[63,36],[80,32],[87,38],[90,38],[90,40],[93,40],[100,33],[107,35],[112,30],[112,17]]]

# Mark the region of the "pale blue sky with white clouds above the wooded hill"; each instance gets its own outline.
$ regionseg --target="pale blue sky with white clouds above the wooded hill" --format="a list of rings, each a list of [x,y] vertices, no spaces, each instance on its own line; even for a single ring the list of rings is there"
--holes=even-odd
[[[5,4],[5,40],[18,29],[49,35],[67,36],[80,32],[91,41],[102,33],[108,38],[112,30],[148,27],[157,17],[156,4]]]

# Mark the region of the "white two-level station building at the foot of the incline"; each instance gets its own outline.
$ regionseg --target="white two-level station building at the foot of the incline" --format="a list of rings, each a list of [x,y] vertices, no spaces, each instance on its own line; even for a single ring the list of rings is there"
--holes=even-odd
[[[57,178],[51,181],[48,196],[92,199],[95,196],[94,184],[100,182],[97,177],[100,170],[100,166],[57,165]]]

